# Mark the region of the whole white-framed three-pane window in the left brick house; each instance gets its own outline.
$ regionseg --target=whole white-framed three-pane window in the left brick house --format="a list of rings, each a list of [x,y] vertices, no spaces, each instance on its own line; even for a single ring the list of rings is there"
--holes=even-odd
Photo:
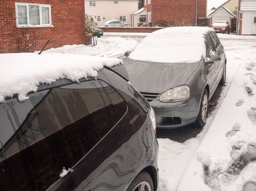
[[[49,4],[15,3],[17,27],[52,26]]]

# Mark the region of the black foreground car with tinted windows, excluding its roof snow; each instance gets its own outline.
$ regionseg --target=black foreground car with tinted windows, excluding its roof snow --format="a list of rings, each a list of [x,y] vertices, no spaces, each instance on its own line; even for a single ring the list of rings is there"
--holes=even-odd
[[[0,103],[1,190],[157,190],[155,116],[123,65],[28,96]]]

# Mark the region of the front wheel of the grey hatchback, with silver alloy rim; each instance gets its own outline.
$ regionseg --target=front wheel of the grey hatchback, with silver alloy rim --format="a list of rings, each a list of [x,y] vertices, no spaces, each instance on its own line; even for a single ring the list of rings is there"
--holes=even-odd
[[[208,105],[209,105],[209,94],[207,89],[204,89],[201,103],[200,103],[199,114],[195,121],[195,125],[197,127],[202,128],[206,124],[206,118],[208,114]]]

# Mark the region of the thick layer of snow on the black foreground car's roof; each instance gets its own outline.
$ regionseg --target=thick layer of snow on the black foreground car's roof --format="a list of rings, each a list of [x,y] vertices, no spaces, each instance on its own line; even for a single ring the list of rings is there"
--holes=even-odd
[[[112,67],[122,62],[117,58],[65,53],[4,53],[0,54],[0,60],[0,103],[14,94],[18,94],[21,102],[25,101],[29,99],[27,93],[36,92],[40,83],[96,77],[97,71],[104,66]]]

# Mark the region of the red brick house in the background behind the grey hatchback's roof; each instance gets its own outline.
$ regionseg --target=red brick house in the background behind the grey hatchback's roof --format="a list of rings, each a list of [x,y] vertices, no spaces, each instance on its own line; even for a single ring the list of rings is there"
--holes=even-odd
[[[196,17],[206,17],[207,0],[144,0],[147,22],[183,22],[195,26]],[[197,15],[197,16],[196,16]]]

